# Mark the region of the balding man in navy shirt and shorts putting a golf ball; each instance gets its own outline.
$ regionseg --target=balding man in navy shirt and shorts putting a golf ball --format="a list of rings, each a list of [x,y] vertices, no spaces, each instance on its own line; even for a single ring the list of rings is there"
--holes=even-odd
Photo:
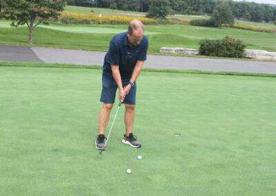
[[[148,38],[144,35],[144,25],[135,19],[130,21],[128,32],[123,32],[112,38],[109,50],[104,57],[101,99],[103,106],[99,112],[99,134],[95,141],[97,149],[104,148],[104,131],[108,125],[110,111],[115,102],[117,88],[119,88],[119,101],[125,104],[126,134],[122,142],[135,148],[141,144],[133,135],[132,128],[135,120],[136,79],[139,77],[146,52]]]

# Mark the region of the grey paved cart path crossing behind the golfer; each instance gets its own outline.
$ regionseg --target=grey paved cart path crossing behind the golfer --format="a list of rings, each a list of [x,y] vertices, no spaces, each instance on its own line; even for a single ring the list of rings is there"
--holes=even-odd
[[[0,61],[102,66],[104,55],[106,52],[0,45]],[[276,74],[275,62],[163,55],[147,55],[147,57],[144,68]]]

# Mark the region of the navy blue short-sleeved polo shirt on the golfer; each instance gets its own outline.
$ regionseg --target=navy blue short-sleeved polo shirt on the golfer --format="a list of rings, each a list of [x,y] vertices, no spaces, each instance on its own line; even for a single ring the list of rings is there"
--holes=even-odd
[[[126,32],[115,35],[110,41],[109,50],[104,57],[103,77],[112,77],[110,65],[119,66],[121,79],[130,79],[137,61],[146,61],[148,38],[144,35],[137,46],[128,46]]]

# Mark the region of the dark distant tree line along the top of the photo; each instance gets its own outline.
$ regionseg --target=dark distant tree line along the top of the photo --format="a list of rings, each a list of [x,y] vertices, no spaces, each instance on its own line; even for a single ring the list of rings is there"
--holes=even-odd
[[[167,14],[213,14],[216,6],[228,3],[234,17],[248,21],[274,21],[276,6],[231,0],[67,0],[69,6],[112,8],[148,12],[152,6],[164,6]]]

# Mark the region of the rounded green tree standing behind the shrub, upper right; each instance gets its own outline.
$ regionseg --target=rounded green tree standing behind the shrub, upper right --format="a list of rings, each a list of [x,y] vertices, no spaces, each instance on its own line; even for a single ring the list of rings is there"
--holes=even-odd
[[[221,3],[215,7],[211,21],[215,23],[216,26],[221,28],[222,24],[227,24],[228,26],[233,26],[234,16],[230,9],[228,3]]]

